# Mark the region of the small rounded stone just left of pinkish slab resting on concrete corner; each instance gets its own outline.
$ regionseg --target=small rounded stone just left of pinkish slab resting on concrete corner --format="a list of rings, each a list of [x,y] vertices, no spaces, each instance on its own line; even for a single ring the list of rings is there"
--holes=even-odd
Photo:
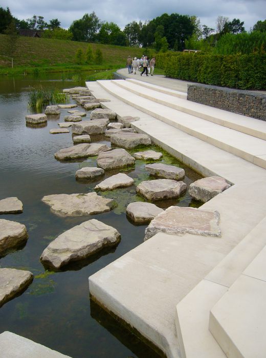
[[[130,203],[126,208],[126,214],[132,221],[137,223],[150,222],[162,212],[164,212],[163,209],[151,203],[135,202]]]

